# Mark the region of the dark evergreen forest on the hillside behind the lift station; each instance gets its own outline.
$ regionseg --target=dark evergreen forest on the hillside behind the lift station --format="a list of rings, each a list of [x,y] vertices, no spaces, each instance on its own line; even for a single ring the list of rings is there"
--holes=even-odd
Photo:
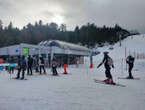
[[[129,31],[118,24],[115,24],[114,27],[105,25],[98,27],[94,23],[87,23],[68,31],[66,24],[60,26],[53,22],[43,24],[42,20],[35,22],[35,24],[28,23],[22,29],[13,27],[12,22],[4,27],[2,20],[0,20],[0,47],[19,43],[38,44],[44,40],[61,40],[94,47],[96,44],[105,42],[113,44],[129,35]]]

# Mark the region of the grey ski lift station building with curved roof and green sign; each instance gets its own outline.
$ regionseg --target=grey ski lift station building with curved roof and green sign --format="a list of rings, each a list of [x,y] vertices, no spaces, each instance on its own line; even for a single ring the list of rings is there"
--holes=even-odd
[[[41,41],[38,45],[21,43],[0,48],[0,57],[18,55],[43,56],[49,64],[52,60],[62,64],[76,64],[78,61],[83,63],[84,56],[90,56],[91,51],[86,47],[59,40]]]

